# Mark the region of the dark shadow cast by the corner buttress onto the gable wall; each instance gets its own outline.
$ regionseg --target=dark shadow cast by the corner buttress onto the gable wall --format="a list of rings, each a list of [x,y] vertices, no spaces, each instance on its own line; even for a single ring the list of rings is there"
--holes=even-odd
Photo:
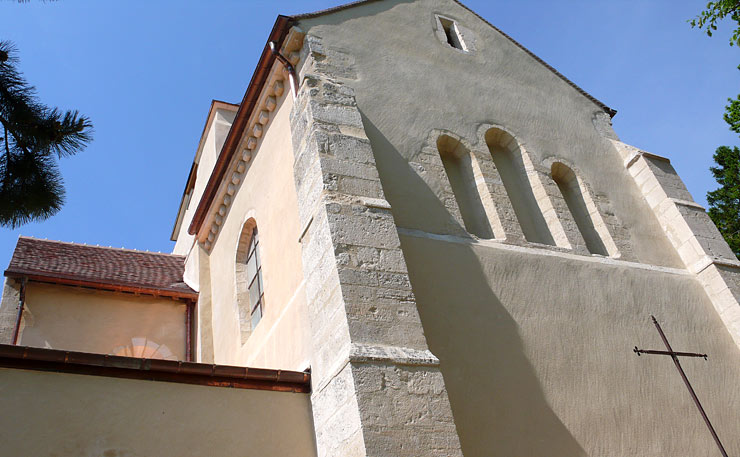
[[[372,122],[365,117],[363,122],[396,224],[434,232],[449,221],[444,205],[406,159]],[[471,248],[403,235],[401,245],[429,348],[441,361],[463,453],[586,455],[550,408],[517,323]],[[430,249],[450,252],[430,254]],[[445,261],[431,261],[436,259]]]

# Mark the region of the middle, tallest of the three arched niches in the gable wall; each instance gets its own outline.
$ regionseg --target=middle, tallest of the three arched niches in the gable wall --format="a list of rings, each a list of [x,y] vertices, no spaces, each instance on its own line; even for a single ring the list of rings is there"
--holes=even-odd
[[[498,128],[486,132],[486,144],[509,196],[514,214],[527,241],[555,245],[524,167],[522,151],[514,137]],[[544,192],[540,192],[544,195]]]

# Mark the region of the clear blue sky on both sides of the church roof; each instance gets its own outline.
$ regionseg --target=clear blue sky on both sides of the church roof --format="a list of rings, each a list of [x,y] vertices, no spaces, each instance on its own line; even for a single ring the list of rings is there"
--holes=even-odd
[[[67,203],[0,228],[0,268],[19,235],[169,252],[211,99],[239,102],[277,14],[342,1],[0,2],[41,100],[78,109],[92,144],[61,162]],[[620,138],[671,158],[694,198],[715,188],[714,149],[737,145],[722,113],[740,92],[730,24],[686,23],[705,0],[469,0],[470,8],[619,111]]]

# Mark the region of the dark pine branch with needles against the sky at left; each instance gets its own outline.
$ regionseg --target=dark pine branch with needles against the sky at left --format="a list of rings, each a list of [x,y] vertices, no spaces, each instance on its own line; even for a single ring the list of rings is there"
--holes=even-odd
[[[57,159],[82,150],[92,124],[36,99],[17,70],[13,45],[0,41],[0,226],[18,227],[56,214],[64,204]]]

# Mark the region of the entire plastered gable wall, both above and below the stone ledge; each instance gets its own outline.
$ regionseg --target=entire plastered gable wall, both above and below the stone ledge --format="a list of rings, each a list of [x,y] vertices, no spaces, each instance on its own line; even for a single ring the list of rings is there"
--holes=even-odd
[[[467,29],[472,52],[437,39],[435,14]],[[320,43],[300,71],[331,73],[356,94],[465,455],[715,455],[671,361],[632,352],[663,349],[650,314],[674,348],[710,354],[684,367],[728,451],[740,452],[740,352],[600,107],[452,1],[372,2],[300,27]],[[465,230],[436,141],[448,134],[490,157],[493,127],[526,151],[527,178],[549,200],[540,208],[554,209],[567,242],[479,241]],[[589,256],[568,232],[555,162],[576,173],[620,260]],[[495,174],[481,182],[503,187]],[[505,223],[506,196],[493,200]]]

